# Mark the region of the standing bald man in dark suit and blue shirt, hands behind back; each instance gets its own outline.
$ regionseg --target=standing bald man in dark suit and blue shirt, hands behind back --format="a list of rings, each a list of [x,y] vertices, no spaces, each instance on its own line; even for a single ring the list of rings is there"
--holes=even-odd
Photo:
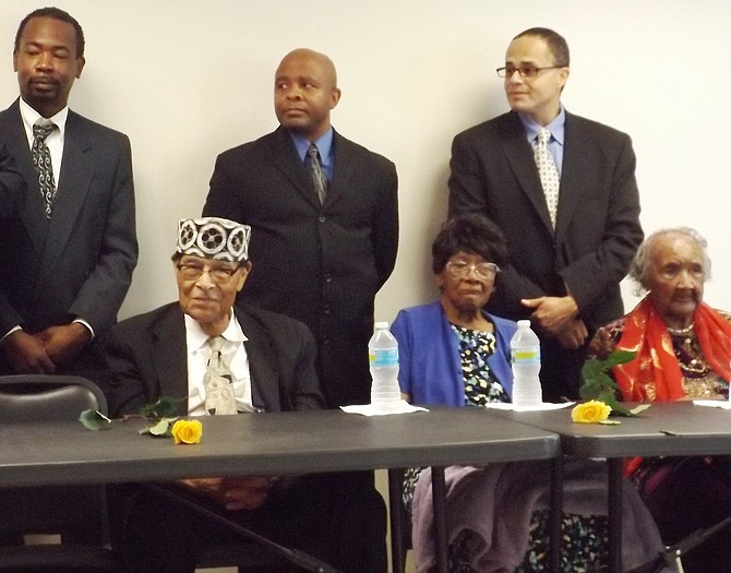
[[[262,270],[247,299],[312,330],[328,407],[370,402],[373,302],[398,243],[396,169],[332,128],[339,99],[329,58],[285,56],[274,80],[280,127],[218,157],[203,210],[251,225]]]

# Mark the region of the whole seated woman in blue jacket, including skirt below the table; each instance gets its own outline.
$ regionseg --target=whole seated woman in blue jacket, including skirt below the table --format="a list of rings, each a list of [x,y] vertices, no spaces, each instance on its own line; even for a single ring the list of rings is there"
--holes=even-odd
[[[441,296],[434,302],[402,310],[391,329],[398,341],[398,382],[405,399],[453,407],[511,402],[510,343],[517,325],[483,310],[500,287],[504,265],[505,239],[488,218],[462,215],[442,226],[432,244],[432,268]],[[549,570],[549,511],[543,503],[548,468],[546,464],[446,468],[450,571]],[[564,475],[562,571],[599,571],[608,563],[606,466],[578,459],[566,463]],[[495,486],[501,484],[504,487]],[[517,494],[499,494],[506,488]],[[633,540],[623,545],[623,565],[628,570],[655,558],[662,545],[636,491],[630,486],[624,489],[625,508],[632,508],[633,516],[627,520],[625,513],[624,520],[624,538]],[[434,564],[428,490],[428,469],[406,471],[404,501],[411,510],[414,499],[414,553],[419,573]],[[515,501],[518,498],[531,501]]]

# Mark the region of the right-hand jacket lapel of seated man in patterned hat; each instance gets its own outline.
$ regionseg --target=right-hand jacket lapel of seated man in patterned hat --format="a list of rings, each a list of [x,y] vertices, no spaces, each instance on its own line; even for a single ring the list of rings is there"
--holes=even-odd
[[[251,375],[251,397],[255,407],[279,411],[279,379],[275,365],[277,356],[266,330],[243,309],[236,308],[236,318],[248,341],[244,343]]]

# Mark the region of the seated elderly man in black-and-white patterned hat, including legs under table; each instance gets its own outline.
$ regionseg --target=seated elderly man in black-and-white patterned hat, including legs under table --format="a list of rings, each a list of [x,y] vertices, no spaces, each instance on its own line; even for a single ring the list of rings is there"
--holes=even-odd
[[[190,416],[323,406],[307,326],[233,306],[252,272],[250,234],[248,225],[228,219],[180,222],[172,256],[178,302],[125,320],[109,336],[112,415],[136,414],[161,395],[185,397]],[[383,503],[353,491],[358,485],[348,475],[319,474],[188,479],[181,487],[201,504],[339,570],[385,571]],[[192,572],[207,547],[236,541],[218,524],[140,485],[112,489],[110,521],[112,544],[132,572]],[[383,554],[371,549],[378,536]]]

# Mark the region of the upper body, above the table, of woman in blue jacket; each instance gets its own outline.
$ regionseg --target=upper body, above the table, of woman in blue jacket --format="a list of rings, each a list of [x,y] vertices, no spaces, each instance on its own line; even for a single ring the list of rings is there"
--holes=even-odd
[[[455,407],[511,401],[510,344],[517,326],[483,310],[505,264],[505,239],[486,217],[444,224],[432,244],[441,297],[402,310],[391,327],[405,399]]]

